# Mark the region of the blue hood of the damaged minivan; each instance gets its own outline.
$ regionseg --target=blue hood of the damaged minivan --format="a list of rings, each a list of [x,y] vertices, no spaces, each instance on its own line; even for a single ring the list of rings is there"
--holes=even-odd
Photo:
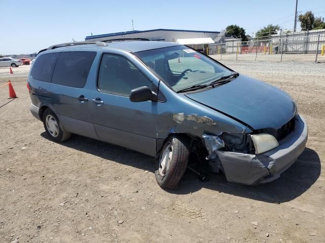
[[[296,113],[296,103],[287,93],[243,74],[225,85],[186,96],[254,130],[279,129]]]

